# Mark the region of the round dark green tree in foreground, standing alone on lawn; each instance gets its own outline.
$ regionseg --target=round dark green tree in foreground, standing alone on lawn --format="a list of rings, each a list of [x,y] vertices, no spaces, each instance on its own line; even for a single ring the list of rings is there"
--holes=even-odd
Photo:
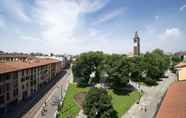
[[[84,113],[88,118],[117,118],[111,99],[105,89],[90,89],[83,103]]]

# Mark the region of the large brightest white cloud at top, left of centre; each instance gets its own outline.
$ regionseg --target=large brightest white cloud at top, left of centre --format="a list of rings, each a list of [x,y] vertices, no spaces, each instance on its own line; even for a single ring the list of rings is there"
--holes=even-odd
[[[42,38],[64,40],[72,35],[80,14],[76,2],[67,0],[36,1],[36,20],[42,28]]]

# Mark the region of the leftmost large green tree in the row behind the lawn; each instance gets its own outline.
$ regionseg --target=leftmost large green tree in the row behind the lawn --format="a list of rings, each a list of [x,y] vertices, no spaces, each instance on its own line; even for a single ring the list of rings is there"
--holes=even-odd
[[[82,53],[73,63],[72,71],[75,78],[78,78],[78,84],[90,85],[100,80],[100,67],[103,62],[102,52]],[[93,78],[90,77],[95,73]]]

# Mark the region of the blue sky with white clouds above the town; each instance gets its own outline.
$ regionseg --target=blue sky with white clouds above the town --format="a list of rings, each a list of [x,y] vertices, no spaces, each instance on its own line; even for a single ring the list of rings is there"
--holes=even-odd
[[[186,0],[0,0],[0,50],[79,54],[186,50]]]

